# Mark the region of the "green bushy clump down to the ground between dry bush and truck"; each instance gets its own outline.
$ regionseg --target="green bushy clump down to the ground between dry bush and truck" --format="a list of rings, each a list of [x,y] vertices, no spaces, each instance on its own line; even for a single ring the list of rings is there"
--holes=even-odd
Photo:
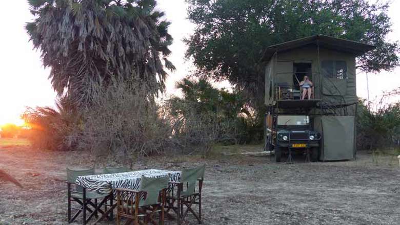
[[[171,96],[166,108],[174,137],[181,145],[205,146],[209,150],[215,143],[249,143],[258,137],[241,92],[217,89],[206,78],[192,77],[177,82],[176,88],[182,97]]]

